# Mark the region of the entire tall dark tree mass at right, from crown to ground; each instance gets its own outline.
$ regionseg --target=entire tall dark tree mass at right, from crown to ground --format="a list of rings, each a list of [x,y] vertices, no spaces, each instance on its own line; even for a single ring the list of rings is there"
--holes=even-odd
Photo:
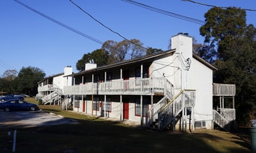
[[[216,83],[236,84],[236,120],[248,125],[255,118],[251,112],[256,106],[256,29],[246,25],[246,11],[239,8],[211,8],[204,17],[206,24],[200,33],[204,42],[216,45],[217,50],[213,64],[218,71],[213,79]],[[209,49],[201,53],[211,55]]]

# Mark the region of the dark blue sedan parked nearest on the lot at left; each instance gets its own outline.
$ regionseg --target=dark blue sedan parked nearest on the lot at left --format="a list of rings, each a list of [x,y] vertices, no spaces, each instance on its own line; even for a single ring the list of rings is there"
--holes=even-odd
[[[10,99],[6,102],[0,102],[0,109],[4,111],[37,111],[39,107],[20,99]]]

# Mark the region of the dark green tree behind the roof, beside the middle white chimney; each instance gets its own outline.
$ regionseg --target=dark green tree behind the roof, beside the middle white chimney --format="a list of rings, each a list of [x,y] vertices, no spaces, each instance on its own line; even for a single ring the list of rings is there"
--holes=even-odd
[[[93,60],[99,67],[107,65],[109,53],[105,49],[96,49],[92,53],[84,54],[84,56],[77,61],[76,67],[77,70],[83,71],[85,69],[85,63]]]

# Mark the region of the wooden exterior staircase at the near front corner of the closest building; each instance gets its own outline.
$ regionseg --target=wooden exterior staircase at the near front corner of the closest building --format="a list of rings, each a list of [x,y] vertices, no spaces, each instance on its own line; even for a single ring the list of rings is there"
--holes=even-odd
[[[188,110],[195,106],[195,90],[181,90],[175,97],[165,95],[160,101],[149,109],[146,114],[146,127],[161,131],[172,125],[175,129],[176,122],[181,117],[186,118]],[[186,122],[182,122],[185,125]],[[184,126],[182,126],[184,127]]]

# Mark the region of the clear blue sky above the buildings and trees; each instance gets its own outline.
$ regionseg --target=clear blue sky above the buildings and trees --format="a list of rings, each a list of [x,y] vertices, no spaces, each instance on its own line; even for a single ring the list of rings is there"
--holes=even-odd
[[[105,42],[123,40],[94,21],[69,0],[19,0],[53,19],[86,35]],[[127,39],[138,39],[144,47],[167,50],[172,35],[189,33],[198,43],[200,24],[135,6],[121,0],[73,0],[87,13]],[[148,6],[204,21],[211,7],[189,1],[135,0]],[[236,6],[255,10],[255,0],[195,0],[214,6]],[[246,11],[247,24],[256,26],[256,11]],[[38,67],[46,76],[63,72],[84,54],[100,49],[101,44],[74,33],[45,17],[34,13],[16,1],[0,1],[0,77],[6,70],[20,71],[22,67]]]

